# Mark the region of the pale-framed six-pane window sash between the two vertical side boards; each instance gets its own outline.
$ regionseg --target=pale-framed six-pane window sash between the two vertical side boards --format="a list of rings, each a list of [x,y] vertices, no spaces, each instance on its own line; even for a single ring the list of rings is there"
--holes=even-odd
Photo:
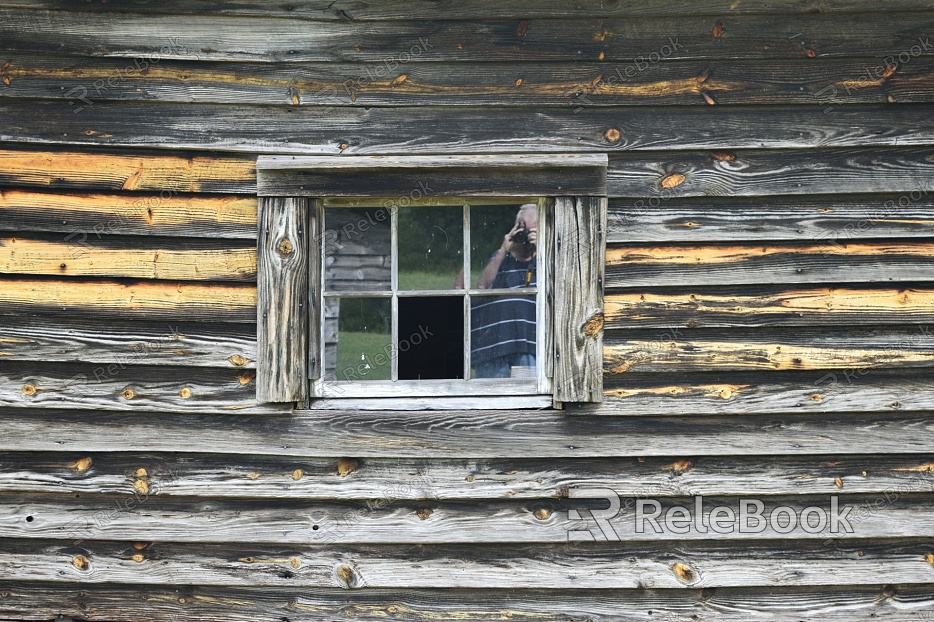
[[[522,248],[527,247],[511,246],[516,255],[507,254],[508,262],[501,266],[514,269],[511,278],[480,282],[490,259],[508,243],[506,234],[518,228],[517,216],[525,233],[531,224],[542,239],[545,201],[510,197],[415,203],[399,207],[373,198],[323,201],[323,282],[312,287],[321,287],[324,299],[318,346],[325,365],[312,394],[550,391],[541,365],[547,322],[536,276],[538,264],[548,260],[541,246],[524,257]],[[523,205],[527,207],[520,214]],[[508,365],[503,377],[501,362],[495,374],[483,364],[497,344],[484,334],[490,327],[477,321],[488,320],[491,308],[510,307],[524,307],[523,317],[515,319],[525,330],[506,330],[502,336],[525,342],[527,356],[514,352],[511,362],[517,364]],[[502,317],[510,319],[508,313]],[[496,322],[487,324],[498,330]],[[508,327],[510,322],[501,324]],[[488,330],[478,330],[483,328]]]

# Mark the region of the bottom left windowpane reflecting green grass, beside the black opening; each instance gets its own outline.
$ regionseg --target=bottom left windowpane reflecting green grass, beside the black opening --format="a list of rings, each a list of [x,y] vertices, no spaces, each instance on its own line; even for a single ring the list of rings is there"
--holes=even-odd
[[[325,379],[391,380],[392,299],[332,298],[327,304],[331,308],[325,309]],[[330,360],[328,335],[337,336]]]

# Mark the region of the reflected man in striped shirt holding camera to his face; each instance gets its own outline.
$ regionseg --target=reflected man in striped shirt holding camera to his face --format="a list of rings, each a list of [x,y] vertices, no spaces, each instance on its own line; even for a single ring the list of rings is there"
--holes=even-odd
[[[535,286],[538,210],[519,208],[513,228],[490,257],[478,289]],[[535,296],[475,296],[471,300],[471,360],[477,378],[509,378],[511,367],[535,368]]]

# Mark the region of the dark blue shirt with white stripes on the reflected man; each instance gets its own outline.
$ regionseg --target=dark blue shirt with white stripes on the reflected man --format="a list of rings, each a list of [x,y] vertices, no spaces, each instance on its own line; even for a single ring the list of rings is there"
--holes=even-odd
[[[492,259],[492,258],[491,258]],[[535,257],[503,259],[493,289],[535,286]],[[535,296],[474,296],[471,298],[471,359],[474,364],[510,356],[535,356]]]

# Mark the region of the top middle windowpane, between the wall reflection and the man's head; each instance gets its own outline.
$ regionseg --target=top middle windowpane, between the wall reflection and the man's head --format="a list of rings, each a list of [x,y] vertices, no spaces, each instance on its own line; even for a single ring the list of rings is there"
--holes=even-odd
[[[399,210],[399,289],[452,289],[463,265],[463,206]]]

